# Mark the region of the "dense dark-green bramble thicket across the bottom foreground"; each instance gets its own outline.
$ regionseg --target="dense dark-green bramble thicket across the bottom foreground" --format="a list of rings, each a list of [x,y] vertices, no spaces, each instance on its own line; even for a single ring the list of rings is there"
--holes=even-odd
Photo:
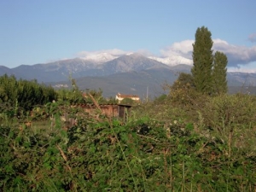
[[[124,125],[57,102],[47,108],[55,125],[0,126],[0,190],[250,191],[256,184],[255,145],[203,134],[207,126],[146,117]],[[63,113],[78,118],[67,131]]]

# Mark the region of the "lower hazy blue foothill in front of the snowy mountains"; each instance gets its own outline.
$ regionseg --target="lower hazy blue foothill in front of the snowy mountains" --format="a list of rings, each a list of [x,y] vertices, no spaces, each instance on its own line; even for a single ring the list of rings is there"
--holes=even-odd
[[[138,95],[141,98],[159,96],[164,93],[162,85],[172,84],[177,75],[165,68],[148,69],[139,72],[115,73],[104,77],[84,77],[76,79],[80,90],[103,90],[103,96],[115,96],[118,92]]]

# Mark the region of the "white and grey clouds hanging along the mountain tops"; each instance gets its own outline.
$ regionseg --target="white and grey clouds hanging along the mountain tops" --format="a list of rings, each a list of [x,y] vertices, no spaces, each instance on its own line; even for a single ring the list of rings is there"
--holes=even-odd
[[[251,41],[255,38],[252,34]],[[214,51],[221,51],[228,56],[228,67],[241,68],[251,67],[253,62],[256,62],[256,46],[246,47],[240,45],[229,44],[228,42],[216,38],[212,39]],[[164,49],[160,49],[160,55],[154,55],[147,50],[138,50],[137,52],[147,56],[150,59],[160,61],[169,66],[176,66],[178,64],[193,65],[192,52],[195,40],[184,40],[176,42]],[[99,51],[81,51],[78,53],[80,58],[89,61],[96,61],[103,63],[112,61],[121,55],[129,55],[131,52],[121,49],[103,49]]]

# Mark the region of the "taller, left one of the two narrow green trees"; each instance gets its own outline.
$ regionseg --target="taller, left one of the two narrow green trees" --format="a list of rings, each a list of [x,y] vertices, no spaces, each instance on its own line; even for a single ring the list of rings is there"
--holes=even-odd
[[[212,93],[212,33],[207,27],[197,28],[193,44],[193,62],[191,69],[195,89],[201,93]]]

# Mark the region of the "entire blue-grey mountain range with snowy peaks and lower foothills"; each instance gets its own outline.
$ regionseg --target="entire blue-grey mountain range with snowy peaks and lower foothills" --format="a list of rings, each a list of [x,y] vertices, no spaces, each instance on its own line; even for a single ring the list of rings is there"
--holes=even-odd
[[[0,66],[0,75],[6,73],[15,75],[17,79],[37,79],[38,83],[51,84],[56,88],[68,87],[70,79],[76,79],[80,90],[102,89],[103,96],[115,96],[120,92],[145,98],[164,93],[163,84],[172,84],[178,73],[190,73],[190,69],[191,65],[174,65],[170,59],[146,57],[138,53],[103,53],[31,66]],[[241,90],[241,87],[252,89],[256,86],[256,73],[227,73],[227,79],[233,92],[236,92],[234,87]]]

